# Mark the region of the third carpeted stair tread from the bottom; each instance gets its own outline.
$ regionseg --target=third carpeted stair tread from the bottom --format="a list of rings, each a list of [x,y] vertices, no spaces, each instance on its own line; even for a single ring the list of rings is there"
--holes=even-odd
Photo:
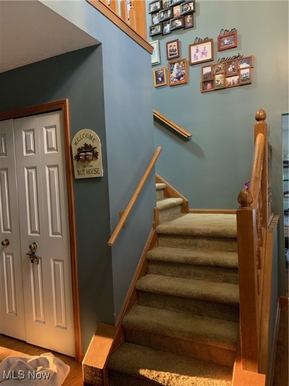
[[[137,280],[137,291],[181,298],[199,299],[230,305],[239,304],[238,284],[147,274]]]

